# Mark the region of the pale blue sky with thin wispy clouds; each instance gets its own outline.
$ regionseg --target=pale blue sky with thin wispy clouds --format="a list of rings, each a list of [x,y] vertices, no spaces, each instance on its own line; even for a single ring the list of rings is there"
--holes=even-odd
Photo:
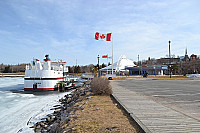
[[[199,0],[1,0],[0,63],[29,63],[33,57],[63,59],[68,65],[96,64],[111,55],[111,42],[95,32],[112,32],[114,62],[200,55]],[[107,62],[100,59],[100,63]],[[110,60],[111,62],[111,60]]]

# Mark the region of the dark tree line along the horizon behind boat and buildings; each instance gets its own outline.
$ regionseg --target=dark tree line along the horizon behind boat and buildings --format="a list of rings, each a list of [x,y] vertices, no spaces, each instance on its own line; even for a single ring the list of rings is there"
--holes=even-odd
[[[200,73],[200,59],[189,59],[183,60],[180,58],[172,58],[170,69],[172,74],[178,75],[186,75],[186,74],[199,74]],[[148,60],[142,60],[138,62],[134,62],[137,66],[145,66],[145,65],[167,65],[169,63],[169,58],[148,58]],[[17,65],[5,65],[0,64],[0,73],[18,73],[18,72],[25,72],[25,66],[28,64],[17,64]],[[111,65],[110,63],[108,65]],[[68,73],[96,73],[97,69],[101,69],[106,67],[106,64],[90,64],[90,65],[75,65],[75,66],[68,66]],[[169,66],[168,66],[169,67]],[[168,72],[167,72],[168,73]]]

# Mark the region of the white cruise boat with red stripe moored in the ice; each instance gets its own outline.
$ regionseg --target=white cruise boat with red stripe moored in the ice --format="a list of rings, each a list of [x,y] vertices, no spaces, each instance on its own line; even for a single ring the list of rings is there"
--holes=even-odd
[[[66,62],[51,62],[49,55],[45,55],[44,62],[33,59],[26,65],[24,90],[43,91],[56,90],[59,81],[65,81],[64,72],[68,72]]]

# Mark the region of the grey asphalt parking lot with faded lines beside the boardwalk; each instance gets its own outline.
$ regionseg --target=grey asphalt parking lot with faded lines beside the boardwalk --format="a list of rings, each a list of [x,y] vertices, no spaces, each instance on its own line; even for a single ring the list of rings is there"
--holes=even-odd
[[[200,80],[128,79],[118,84],[200,120]]]

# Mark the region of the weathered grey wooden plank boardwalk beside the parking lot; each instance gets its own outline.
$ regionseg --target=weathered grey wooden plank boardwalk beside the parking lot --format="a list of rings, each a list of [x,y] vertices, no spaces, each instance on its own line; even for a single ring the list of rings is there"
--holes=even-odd
[[[115,99],[146,133],[200,133],[200,121],[110,82]]]

